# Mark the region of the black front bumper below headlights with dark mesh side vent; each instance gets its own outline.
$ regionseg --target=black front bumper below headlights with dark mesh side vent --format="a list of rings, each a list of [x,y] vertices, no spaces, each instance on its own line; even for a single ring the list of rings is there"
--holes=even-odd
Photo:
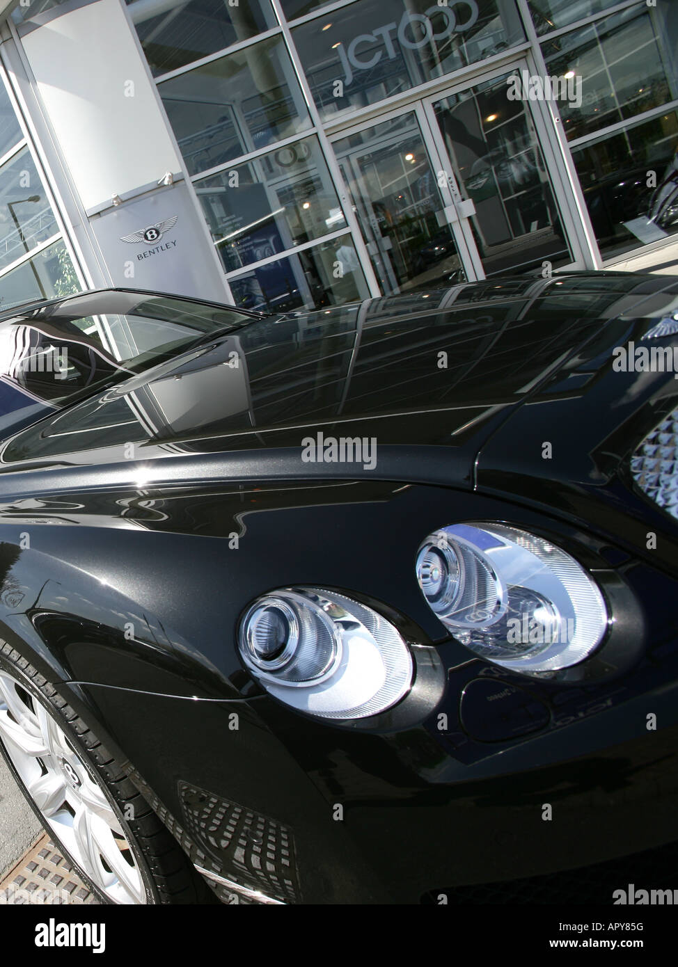
[[[469,662],[471,683],[483,681],[476,664],[488,667]],[[504,695],[494,703],[515,705],[506,682],[489,688]],[[616,706],[575,695],[581,715],[500,744],[452,720],[439,729],[439,709],[414,728],[366,734],[267,696],[83,690],[225,902],[418,903],[678,838],[678,680]]]

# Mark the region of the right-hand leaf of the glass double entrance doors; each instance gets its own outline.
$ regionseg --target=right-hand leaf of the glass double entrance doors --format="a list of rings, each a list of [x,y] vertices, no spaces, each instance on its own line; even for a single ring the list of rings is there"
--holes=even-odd
[[[540,145],[532,104],[509,100],[499,76],[425,103],[429,131],[478,275],[575,261]],[[541,105],[538,105],[541,106]]]

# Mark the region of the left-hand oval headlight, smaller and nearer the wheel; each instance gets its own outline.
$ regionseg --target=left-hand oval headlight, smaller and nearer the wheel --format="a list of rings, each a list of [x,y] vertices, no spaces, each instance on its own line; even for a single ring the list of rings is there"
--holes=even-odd
[[[330,591],[285,588],[254,601],[240,653],[280,701],[321,718],[367,718],[412,684],[412,658],[382,615]]]

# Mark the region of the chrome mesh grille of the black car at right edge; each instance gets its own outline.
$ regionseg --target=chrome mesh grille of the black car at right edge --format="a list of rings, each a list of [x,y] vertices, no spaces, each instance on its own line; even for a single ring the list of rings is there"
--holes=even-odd
[[[640,489],[678,520],[678,407],[635,450],[631,472]]]

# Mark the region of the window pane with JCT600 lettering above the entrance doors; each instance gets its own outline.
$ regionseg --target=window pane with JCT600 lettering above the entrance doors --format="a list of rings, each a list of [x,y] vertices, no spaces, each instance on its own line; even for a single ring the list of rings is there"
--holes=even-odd
[[[365,107],[523,40],[515,0],[361,0],[293,31],[326,120]]]

